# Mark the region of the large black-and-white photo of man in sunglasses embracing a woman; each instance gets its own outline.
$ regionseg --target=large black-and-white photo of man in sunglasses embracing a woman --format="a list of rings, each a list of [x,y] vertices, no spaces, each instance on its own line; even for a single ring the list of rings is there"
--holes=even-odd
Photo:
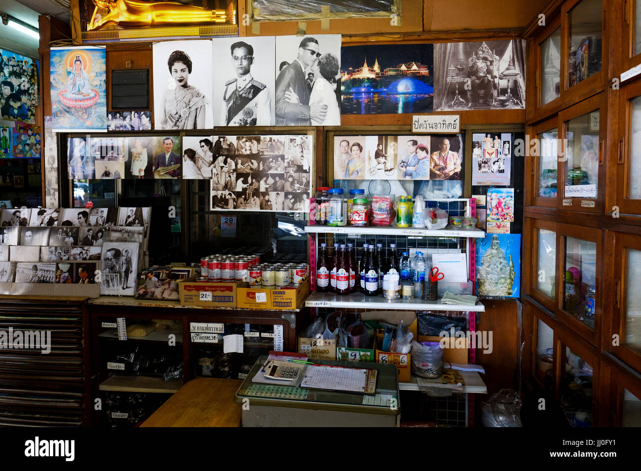
[[[340,35],[276,38],[276,125],[340,125]]]

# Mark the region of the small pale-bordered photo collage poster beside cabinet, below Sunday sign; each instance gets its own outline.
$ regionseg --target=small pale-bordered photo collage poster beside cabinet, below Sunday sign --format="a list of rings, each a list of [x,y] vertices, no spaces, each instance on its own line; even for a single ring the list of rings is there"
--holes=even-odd
[[[472,134],[472,185],[510,185],[511,133]]]

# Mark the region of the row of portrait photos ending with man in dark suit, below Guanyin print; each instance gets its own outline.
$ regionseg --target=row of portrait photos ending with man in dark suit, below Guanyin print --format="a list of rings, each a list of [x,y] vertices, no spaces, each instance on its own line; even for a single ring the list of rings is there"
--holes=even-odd
[[[85,136],[67,141],[71,179],[180,178],[178,136]]]

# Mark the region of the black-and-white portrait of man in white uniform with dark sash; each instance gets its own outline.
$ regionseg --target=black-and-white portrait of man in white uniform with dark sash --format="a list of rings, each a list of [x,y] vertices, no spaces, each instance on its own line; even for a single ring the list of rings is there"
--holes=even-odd
[[[214,44],[214,126],[274,126],[276,38],[216,38]]]

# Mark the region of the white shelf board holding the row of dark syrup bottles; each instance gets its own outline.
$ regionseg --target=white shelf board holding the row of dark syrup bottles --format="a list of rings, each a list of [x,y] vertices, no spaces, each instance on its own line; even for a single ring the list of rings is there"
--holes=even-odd
[[[312,292],[305,301],[305,307],[485,312],[485,306],[478,301],[476,302],[476,306],[468,306],[467,304],[441,304],[440,299],[438,301],[424,301],[420,298],[414,298],[390,301],[382,295],[365,296],[363,293],[352,293],[341,296],[336,293]]]

